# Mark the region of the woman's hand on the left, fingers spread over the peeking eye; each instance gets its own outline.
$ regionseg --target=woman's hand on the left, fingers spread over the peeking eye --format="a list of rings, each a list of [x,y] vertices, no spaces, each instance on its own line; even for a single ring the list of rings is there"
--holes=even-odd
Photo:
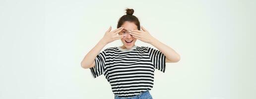
[[[116,30],[111,31],[111,26],[110,26],[109,30],[105,32],[104,37],[101,39],[102,42],[109,44],[115,40],[122,39],[124,35],[119,35],[118,33],[121,32],[123,29],[124,29],[123,27],[120,27]]]

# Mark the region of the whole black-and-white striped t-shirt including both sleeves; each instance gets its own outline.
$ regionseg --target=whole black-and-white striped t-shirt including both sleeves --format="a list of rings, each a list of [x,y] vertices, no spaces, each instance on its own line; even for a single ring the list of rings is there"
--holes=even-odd
[[[150,47],[107,48],[97,55],[90,71],[94,78],[104,74],[113,93],[128,98],[153,88],[154,71],[165,72],[165,58]]]

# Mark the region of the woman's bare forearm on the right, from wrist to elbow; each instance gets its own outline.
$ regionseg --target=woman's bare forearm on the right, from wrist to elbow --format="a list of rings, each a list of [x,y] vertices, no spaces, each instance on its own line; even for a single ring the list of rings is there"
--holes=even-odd
[[[167,62],[178,62],[180,60],[180,55],[174,49],[161,43],[157,39],[154,38],[150,44],[159,49],[166,56],[168,59]]]

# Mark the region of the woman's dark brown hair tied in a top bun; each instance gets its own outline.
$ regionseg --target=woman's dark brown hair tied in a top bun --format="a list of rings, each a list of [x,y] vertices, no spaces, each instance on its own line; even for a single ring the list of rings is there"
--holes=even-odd
[[[117,28],[120,28],[126,21],[129,21],[129,22],[133,22],[138,30],[140,30],[140,23],[139,23],[139,20],[136,16],[132,15],[134,12],[133,9],[129,9],[127,8],[126,9],[126,15],[123,15],[119,20],[118,20],[118,25],[117,25]]]

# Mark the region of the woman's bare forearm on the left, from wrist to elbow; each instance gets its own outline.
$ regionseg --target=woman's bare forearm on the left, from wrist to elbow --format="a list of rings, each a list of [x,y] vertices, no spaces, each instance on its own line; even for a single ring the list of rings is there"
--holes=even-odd
[[[92,48],[83,58],[81,62],[81,66],[83,68],[91,68],[95,65],[95,58],[98,55],[98,53],[107,45],[104,40],[100,40],[97,45]]]

